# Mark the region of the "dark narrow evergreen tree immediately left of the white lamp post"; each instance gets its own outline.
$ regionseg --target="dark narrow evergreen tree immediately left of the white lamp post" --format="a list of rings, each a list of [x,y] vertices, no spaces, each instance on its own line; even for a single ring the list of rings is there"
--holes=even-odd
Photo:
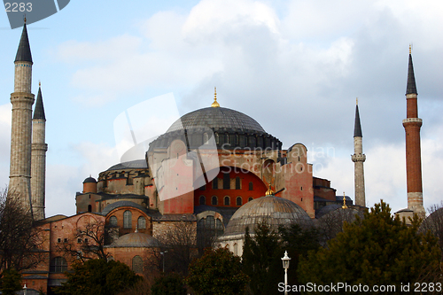
[[[277,293],[278,283],[284,279],[282,246],[279,235],[267,223],[260,223],[253,237],[246,229],[242,263],[251,278],[249,288],[253,294]]]

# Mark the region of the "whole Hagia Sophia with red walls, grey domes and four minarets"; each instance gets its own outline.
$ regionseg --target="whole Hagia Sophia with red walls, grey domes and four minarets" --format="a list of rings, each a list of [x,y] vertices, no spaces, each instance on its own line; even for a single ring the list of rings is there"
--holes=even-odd
[[[27,294],[51,292],[66,279],[63,274],[75,257],[63,245],[91,243],[78,232],[91,224],[108,237],[109,259],[126,263],[143,273],[145,258],[159,252],[162,235],[177,224],[196,229],[197,239],[206,230],[216,233],[216,244],[241,255],[245,229],[266,221],[279,225],[298,222],[312,226],[337,210],[366,209],[362,132],[358,105],[354,124],[354,200],[338,195],[327,179],[313,175],[307,147],[292,144],[284,150],[274,135],[245,113],[212,105],[183,115],[155,139],[144,159],[116,163],[97,177],[87,177],[76,200],[76,214],[46,217],[44,213],[46,151],[43,94],[31,93],[33,59],[23,27],[15,58],[12,102],[12,142],[9,189],[19,192],[43,229],[41,251],[45,259],[35,269],[23,271]],[[33,105],[35,109],[33,112]],[[401,216],[423,214],[420,127],[412,57],[409,54],[407,119],[408,208]],[[51,122],[49,122],[51,123]],[[105,168],[105,167],[104,167]],[[349,175],[352,177],[352,175]],[[79,183],[80,188],[80,183]],[[73,194],[74,195],[74,194]],[[76,247],[76,248],[75,248]]]

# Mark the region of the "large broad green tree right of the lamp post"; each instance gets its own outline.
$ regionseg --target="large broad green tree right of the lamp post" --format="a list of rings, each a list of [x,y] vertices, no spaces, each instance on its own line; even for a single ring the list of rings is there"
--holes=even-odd
[[[328,247],[310,252],[299,262],[303,283],[392,285],[417,282],[425,267],[438,267],[440,251],[435,237],[417,233],[418,221],[408,227],[383,201],[345,223],[344,231]]]

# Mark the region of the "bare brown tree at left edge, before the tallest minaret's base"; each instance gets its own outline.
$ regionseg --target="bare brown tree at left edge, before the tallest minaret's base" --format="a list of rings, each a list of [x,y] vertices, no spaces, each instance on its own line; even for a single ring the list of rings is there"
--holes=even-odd
[[[40,231],[19,197],[13,190],[0,191],[0,269],[20,271],[43,260],[37,250],[43,243]]]

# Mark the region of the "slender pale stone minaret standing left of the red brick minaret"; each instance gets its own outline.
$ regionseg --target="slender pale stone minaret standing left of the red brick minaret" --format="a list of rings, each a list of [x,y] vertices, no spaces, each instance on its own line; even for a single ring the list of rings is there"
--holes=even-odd
[[[355,106],[355,125],[354,125],[354,184],[355,184],[355,205],[366,206],[366,198],[364,195],[364,169],[363,162],[366,156],[363,153],[363,135],[361,133],[359,103]]]

